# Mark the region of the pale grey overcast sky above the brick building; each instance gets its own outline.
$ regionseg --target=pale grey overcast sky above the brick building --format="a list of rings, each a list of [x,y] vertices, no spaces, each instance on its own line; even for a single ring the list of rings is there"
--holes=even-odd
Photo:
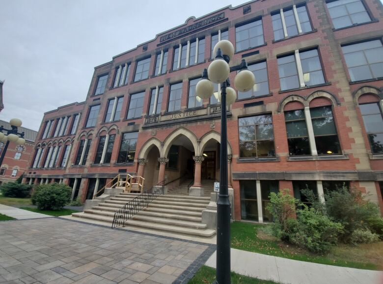
[[[0,119],[38,130],[44,112],[85,100],[94,67],[157,33],[244,0],[2,0]]]

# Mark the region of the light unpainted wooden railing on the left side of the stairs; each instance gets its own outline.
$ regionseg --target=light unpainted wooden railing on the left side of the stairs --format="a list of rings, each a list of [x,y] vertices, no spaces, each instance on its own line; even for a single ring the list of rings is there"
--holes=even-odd
[[[124,192],[138,191],[143,193],[145,178],[129,173],[119,173],[93,196],[93,199],[103,193],[106,188],[123,188]]]

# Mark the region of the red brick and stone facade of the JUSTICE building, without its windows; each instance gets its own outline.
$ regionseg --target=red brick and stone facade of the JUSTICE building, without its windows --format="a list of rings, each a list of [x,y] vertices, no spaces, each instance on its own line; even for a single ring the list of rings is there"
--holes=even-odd
[[[77,186],[79,189],[78,194],[84,200],[87,197],[90,184],[94,187],[93,179],[106,179],[107,181],[115,176],[119,170],[136,173],[138,160],[140,160],[142,166],[146,162],[143,168],[144,177],[148,177],[148,180],[152,181],[150,184],[153,184],[161,177],[158,177],[158,162],[156,160],[149,162],[150,157],[168,158],[167,154],[172,144],[183,146],[190,152],[186,154],[189,155],[187,160],[191,160],[192,155],[201,156],[205,146],[206,149],[213,149],[211,141],[217,143],[217,140],[219,140],[217,139],[217,133],[219,134],[220,129],[219,113],[213,112],[214,106],[209,105],[209,100],[203,100],[202,107],[192,111],[197,110],[201,113],[206,111],[205,114],[195,116],[191,114],[191,117],[181,119],[165,119],[168,114],[170,85],[182,82],[181,110],[177,114],[189,115],[185,114],[185,112],[192,112],[187,109],[189,80],[200,77],[203,68],[208,67],[211,58],[212,34],[219,30],[228,29],[228,38],[235,45],[236,27],[238,25],[252,19],[262,19],[265,44],[242,52],[236,52],[230,62],[230,66],[236,66],[240,64],[242,58],[246,58],[250,64],[266,61],[269,84],[268,95],[237,100],[231,106],[227,118],[229,155],[232,155],[230,165],[234,189],[235,219],[241,219],[241,212],[247,210],[241,207],[245,206],[245,199],[241,198],[241,184],[244,184],[244,180],[275,180],[279,189],[288,188],[292,194],[294,193],[293,183],[298,180],[316,181],[317,184],[328,180],[346,181],[350,182],[351,186],[368,193],[371,200],[379,203],[383,213],[383,199],[379,188],[383,181],[383,155],[372,154],[358,106],[363,100],[369,102],[367,96],[372,96],[380,103],[382,108],[383,81],[380,80],[382,78],[377,78],[363,82],[351,82],[341,48],[344,44],[354,42],[372,39],[382,40],[383,8],[381,2],[379,0],[362,0],[362,3],[369,13],[371,22],[334,30],[325,1],[307,0],[305,1],[305,7],[310,18],[312,31],[274,41],[272,14],[281,8],[293,6],[294,2],[291,0],[252,1],[235,8],[222,8],[199,19],[189,18],[184,25],[165,31],[157,35],[154,40],[113,57],[110,62],[95,67],[89,92],[84,102],[63,106],[44,115],[35,142],[36,151],[38,148],[61,145],[61,153],[57,154],[59,164],[64,146],[71,144],[69,162],[66,167],[45,169],[42,165],[40,168],[33,168],[35,157],[32,157],[29,163],[27,182],[40,183],[60,180],[60,182],[63,181],[73,186],[74,179],[77,178],[77,182],[80,183]],[[250,7],[250,11],[245,13],[244,11],[248,10],[247,6]],[[206,28],[202,27],[197,28],[195,31],[189,31],[183,37],[176,36],[172,41],[161,42],[162,36],[189,27],[204,19],[209,19],[219,13],[224,13],[223,20],[219,20],[217,23],[211,22]],[[195,26],[197,27],[197,25]],[[204,61],[172,71],[174,47],[188,40],[192,41],[196,37],[205,39]],[[310,48],[318,49],[325,84],[281,91],[277,58],[294,53],[294,51]],[[166,72],[154,76],[156,57],[162,50],[168,51]],[[148,79],[134,82],[137,60],[147,57],[151,58]],[[119,76],[116,73],[116,68],[120,65],[124,66],[125,63],[128,63],[126,66],[130,64],[128,83],[114,87],[115,76]],[[105,91],[102,94],[94,95],[98,78],[105,74],[108,74]],[[231,82],[234,81],[235,75],[236,72],[230,73],[229,79]],[[161,114],[156,116],[157,122],[148,123],[149,121],[146,118],[151,117],[148,115],[150,94],[152,88],[156,86],[163,86]],[[131,104],[132,94],[141,91],[145,92],[142,116],[136,119],[125,119]],[[119,119],[104,122],[108,111],[108,100],[120,96],[123,96],[123,103]],[[100,111],[97,116],[97,123],[94,127],[86,128],[89,108],[98,104],[100,104]],[[341,153],[338,155],[309,155],[304,158],[289,156],[284,111],[319,106],[331,107]],[[74,135],[68,135],[72,127],[74,114],[79,113],[81,113],[81,119],[77,131]],[[245,159],[241,157],[238,118],[257,114],[272,114],[275,151],[273,158]],[[59,137],[53,138],[53,134],[51,134],[49,138],[42,139],[46,121],[54,119],[55,123],[57,123],[57,118],[64,116],[70,116],[68,120],[69,131]],[[51,132],[53,131],[55,131],[55,127],[51,129]],[[122,135],[127,132],[137,131],[138,138],[134,162],[128,164],[117,163]],[[93,162],[99,138],[107,134],[109,136],[115,134],[110,163],[95,165]],[[84,166],[74,166],[80,147],[79,142],[85,138],[92,139],[86,163]],[[153,148],[157,150],[153,150]],[[179,151],[178,154],[181,155],[181,150]],[[44,152],[44,155],[42,157],[43,162],[46,155],[48,155],[47,151]],[[186,164],[186,160],[179,158],[178,171],[166,168],[165,182],[182,178],[183,172],[179,169],[182,168],[183,163]],[[148,168],[149,165],[151,165],[151,168]],[[187,168],[187,166],[185,167]],[[217,158],[214,167],[216,170],[219,168]],[[187,173],[188,170],[185,170],[185,174]],[[217,175],[214,176],[217,177]],[[267,197],[262,196],[262,198],[259,197],[258,199],[266,200]]]

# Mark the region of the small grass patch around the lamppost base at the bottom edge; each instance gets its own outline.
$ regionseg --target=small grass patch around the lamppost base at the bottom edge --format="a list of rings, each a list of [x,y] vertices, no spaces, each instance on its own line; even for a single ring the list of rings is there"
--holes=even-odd
[[[202,266],[188,284],[211,284],[216,279],[216,270],[208,266]],[[232,284],[276,284],[273,281],[259,280],[248,276],[231,273]]]

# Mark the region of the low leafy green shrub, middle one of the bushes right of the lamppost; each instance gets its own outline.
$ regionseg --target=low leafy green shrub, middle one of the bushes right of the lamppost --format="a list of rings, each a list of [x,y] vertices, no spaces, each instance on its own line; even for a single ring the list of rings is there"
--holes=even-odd
[[[289,220],[288,226],[290,242],[316,254],[326,254],[343,232],[342,224],[307,206],[297,210],[297,220]]]

